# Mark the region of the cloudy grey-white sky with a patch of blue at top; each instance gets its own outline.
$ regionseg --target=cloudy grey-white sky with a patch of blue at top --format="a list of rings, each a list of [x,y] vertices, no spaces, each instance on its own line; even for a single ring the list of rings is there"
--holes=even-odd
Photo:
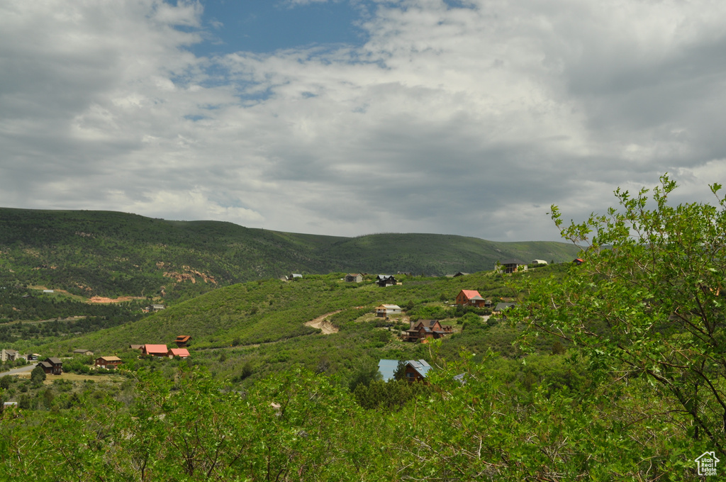
[[[726,181],[722,0],[4,0],[0,206],[556,240]]]

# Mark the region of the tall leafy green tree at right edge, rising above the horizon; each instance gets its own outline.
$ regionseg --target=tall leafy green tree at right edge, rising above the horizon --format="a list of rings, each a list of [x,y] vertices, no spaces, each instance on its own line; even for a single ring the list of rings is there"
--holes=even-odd
[[[685,412],[699,440],[726,449],[726,204],[672,206],[666,175],[619,209],[563,227],[584,263],[561,280],[529,285],[520,321],[579,346],[592,374],[644,377]],[[614,376],[616,375],[616,377]]]

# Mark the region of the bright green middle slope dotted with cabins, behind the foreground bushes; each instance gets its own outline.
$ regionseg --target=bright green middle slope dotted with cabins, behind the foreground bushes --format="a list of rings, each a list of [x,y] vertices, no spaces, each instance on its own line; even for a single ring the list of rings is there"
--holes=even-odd
[[[456,357],[462,348],[482,354],[492,348],[513,355],[518,353],[511,346],[516,331],[494,320],[484,324],[478,316],[467,317],[468,311],[489,311],[452,306],[455,296],[462,289],[473,289],[495,303],[502,297],[513,300],[519,293],[505,282],[560,276],[566,269],[560,264],[506,276],[485,271],[455,278],[401,277],[401,285],[386,288],[370,280],[343,282],[342,273],[308,275],[290,282],[266,279],[213,290],[107,330],[55,338],[33,350],[67,356],[83,347],[101,354],[123,354],[131,344],[173,346],[177,335],[191,335],[195,362],[225,377],[239,375],[247,362],[256,366],[253,378],[297,364],[311,370],[325,364],[326,371],[348,373],[363,360],[425,356],[428,348],[404,343],[397,336],[409,327],[406,319],[423,318],[454,326],[456,334],[446,338],[443,354]],[[375,306],[382,303],[403,307],[404,316],[389,321],[373,316]],[[326,335],[306,326],[325,315],[338,332]],[[542,349],[551,351],[552,343],[543,339]]]

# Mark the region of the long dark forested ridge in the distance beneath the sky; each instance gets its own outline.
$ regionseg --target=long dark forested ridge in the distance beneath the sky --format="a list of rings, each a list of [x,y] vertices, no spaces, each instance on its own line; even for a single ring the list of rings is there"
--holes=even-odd
[[[559,242],[491,242],[441,234],[334,237],[219,221],[166,221],[110,211],[0,208],[0,283],[86,297],[189,298],[291,272],[444,275],[497,260],[569,261]]]

